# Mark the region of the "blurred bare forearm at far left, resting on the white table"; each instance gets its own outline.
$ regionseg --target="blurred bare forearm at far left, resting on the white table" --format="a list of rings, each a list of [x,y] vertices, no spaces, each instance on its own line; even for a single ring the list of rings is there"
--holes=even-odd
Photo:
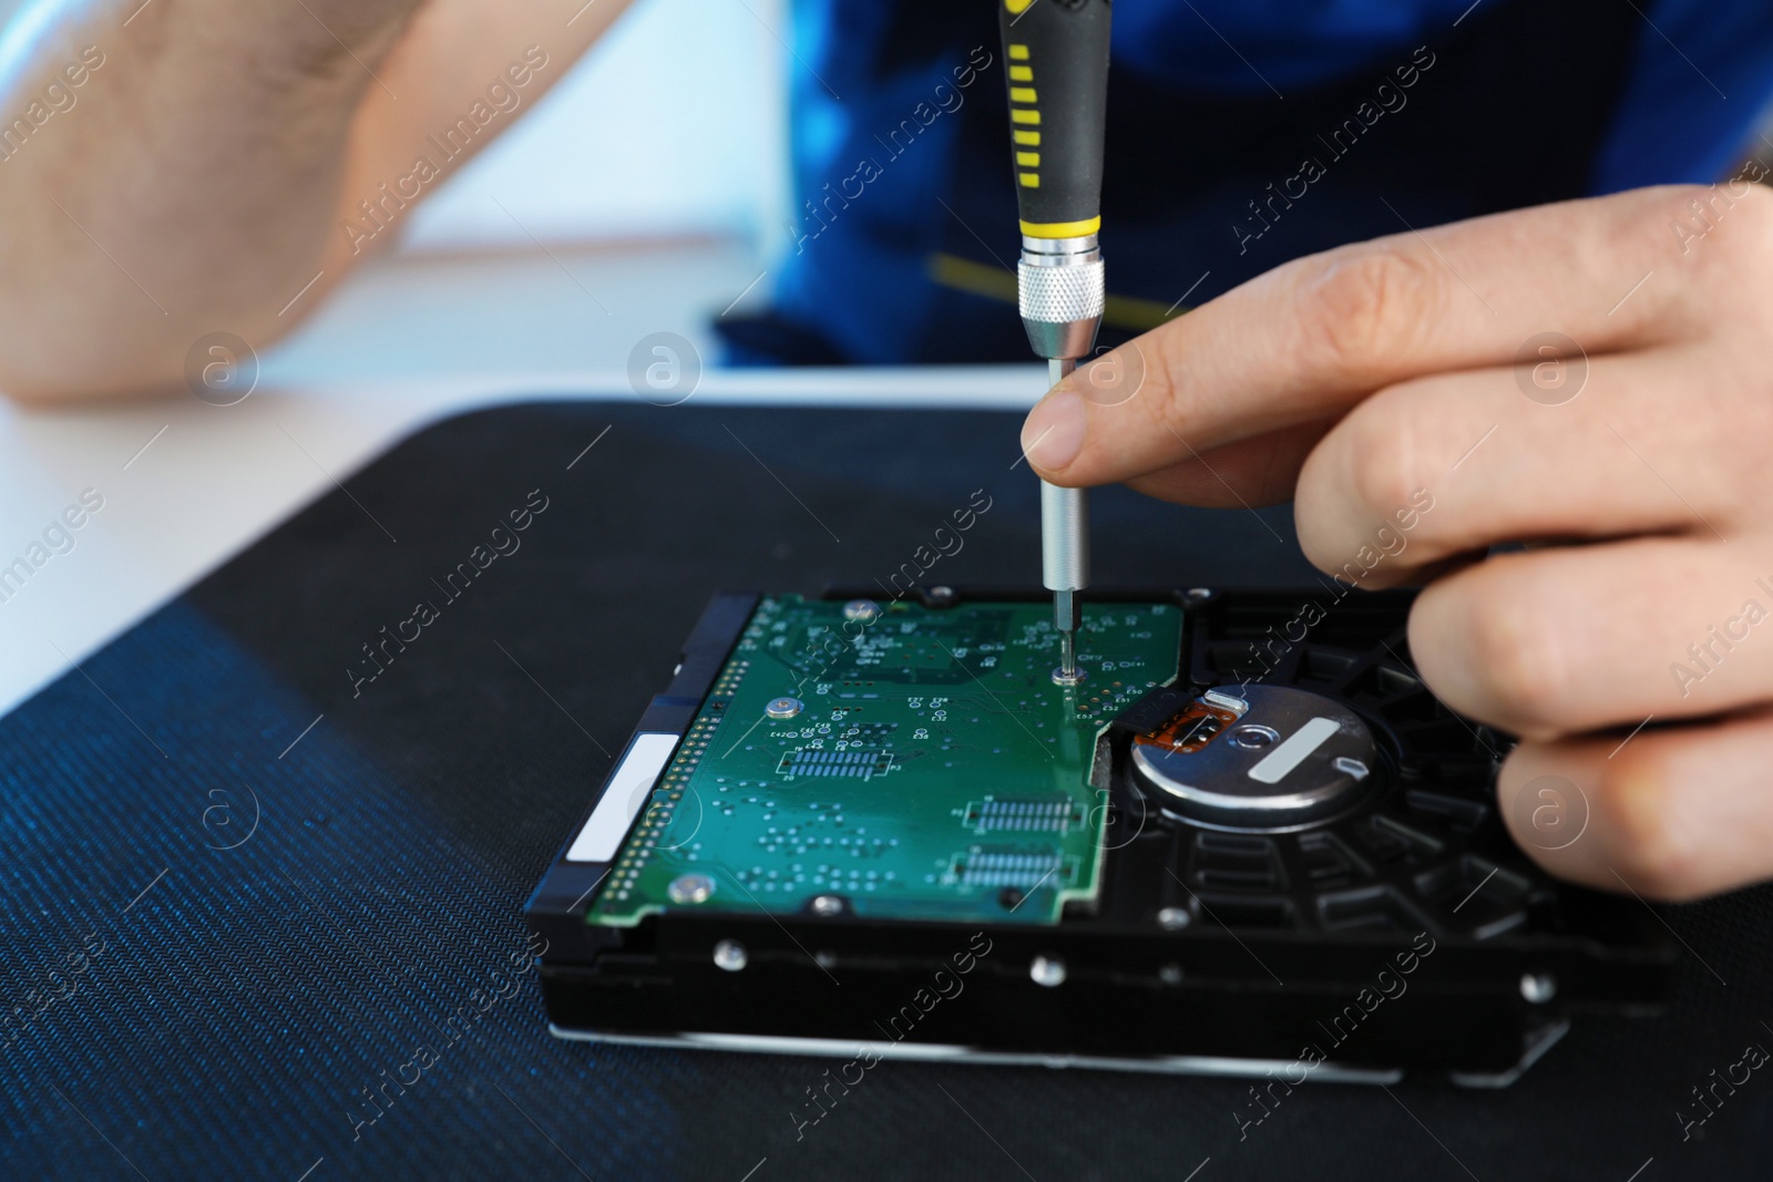
[[[207,331],[275,337],[417,7],[66,5],[0,90],[0,390],[152,388]]]

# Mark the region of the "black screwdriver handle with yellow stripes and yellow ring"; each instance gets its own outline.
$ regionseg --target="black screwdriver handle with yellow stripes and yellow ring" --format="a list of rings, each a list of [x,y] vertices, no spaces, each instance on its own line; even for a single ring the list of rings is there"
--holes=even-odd
[[[998,0],[1021,232],[1101,229],[1110,0]]]

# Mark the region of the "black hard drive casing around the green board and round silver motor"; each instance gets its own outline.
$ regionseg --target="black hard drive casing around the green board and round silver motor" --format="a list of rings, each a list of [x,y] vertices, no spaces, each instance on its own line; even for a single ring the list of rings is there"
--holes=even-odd
[[[1044,592],[918,595],[941,610]],[[759,604],[716,595],[527,904],[546,939],[551,1030],[846,1060],[1319,1081],[1429,1072],[1496,1086],[1580,1012],[1661,1008],[1667,932],[1633,900],[1551,881],[1512,845],[1493,787],[1507,739],[1445,711],[1415,677],[1402,656],[1411,595],[1351,595],[1294,638],[1287,624],[1314,597],[1092,592],[1174,603],[1183,650],[1174,684],[1103,732],[1090,773],[1106,806],[1101,891],[1057,923],[683,906],[594,925],[587,911],[660,751],[688,734]],[[1215,686],[1250,684],[1321,693],[1363,719],[1374,766],[1342,812],[1277,831],[1218,824],[1135,774],[1140,734]]]

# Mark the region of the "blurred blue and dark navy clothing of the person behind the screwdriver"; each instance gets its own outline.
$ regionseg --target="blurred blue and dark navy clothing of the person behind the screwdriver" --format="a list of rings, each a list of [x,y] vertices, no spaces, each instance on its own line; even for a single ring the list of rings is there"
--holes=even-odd
[[[1402,222],[1722,179],[1773,97],[1766,0],[1113,9],[1105,342]],[[800,216],[736,360],[1027,358],[995,0],[794,16]]]

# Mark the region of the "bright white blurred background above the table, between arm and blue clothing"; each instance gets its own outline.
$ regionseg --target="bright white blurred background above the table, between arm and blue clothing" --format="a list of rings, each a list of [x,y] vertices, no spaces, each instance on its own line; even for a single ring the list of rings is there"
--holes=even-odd
[[[578,246],[780,245],[791,204],[787,4],[638,0],[420,207],[406,252],[534,250],[525,230]]]

